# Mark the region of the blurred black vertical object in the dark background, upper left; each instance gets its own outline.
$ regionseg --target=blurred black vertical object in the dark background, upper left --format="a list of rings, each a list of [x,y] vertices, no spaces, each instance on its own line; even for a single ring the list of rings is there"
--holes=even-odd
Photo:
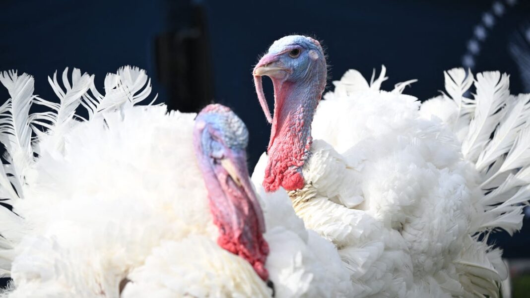
[[[199,112],[213,101],[214,83],[203,5],[167,1],[168,27],[156,39],[156,66],[170,110]]]

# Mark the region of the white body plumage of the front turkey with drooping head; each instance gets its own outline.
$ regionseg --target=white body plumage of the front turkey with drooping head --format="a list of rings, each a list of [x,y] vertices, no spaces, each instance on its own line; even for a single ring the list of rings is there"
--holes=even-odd
[[[215,242],[192,146],[195,114],[136,106],[151,91],[136,68],[108,75],[105,95],[78,70],[73,81],[66,89],[82,82],[83,94],[57,89],[60,103],[48,102],[55,122],[34,140],[39,157],[13,203],[21,217],[0,212],[0,265],[13,278],[4,295],[270,297],[252,267]],[[80,102],[89,120],[73,117]],[[56,133],[59,111],[72,123]],[[276,297],[346,297],[352,285],[337,249],[305,229],[287,194],[262,205]]]

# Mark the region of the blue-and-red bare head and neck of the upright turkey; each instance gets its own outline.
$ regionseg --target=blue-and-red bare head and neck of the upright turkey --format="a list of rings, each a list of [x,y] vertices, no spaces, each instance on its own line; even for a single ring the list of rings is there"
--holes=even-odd
[[[275,41],[253,71],[258,98],[272,123],[269,160],[263,187],[288,191],[304,187],[302,167],[310,157],[311,122],[326,83],[326,61],[320,43],[302,35]],[[274,85],[274,115],[263,94],[262,76]]]

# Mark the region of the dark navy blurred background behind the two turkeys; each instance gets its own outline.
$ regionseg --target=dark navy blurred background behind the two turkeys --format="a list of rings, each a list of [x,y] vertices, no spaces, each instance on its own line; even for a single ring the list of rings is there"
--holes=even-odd
[[[80,68],[102,86],[107,72],[138,66],[170,109],[198,111],[215,99],[240,115],[251,133],[252,170],[270,127],[251,70],[272,41],[291,33],[322,40],[330,87],[350,68],[369,77],[384,64],[390,79],[383,88],[416,78],[405,93],[427,100],[443,89],[444,70],[464,66],[510,73],[517,94],[530,91],[528,21],[530,1],[523,0],[4,0],[0,70],[34,75],[36,94],[54,98],[46,77],[56,69]],[[0,89],[0,103],[7,98]],[[505,256],[530,257],[528,219],[524,227],[509,241],[496,233]]]

